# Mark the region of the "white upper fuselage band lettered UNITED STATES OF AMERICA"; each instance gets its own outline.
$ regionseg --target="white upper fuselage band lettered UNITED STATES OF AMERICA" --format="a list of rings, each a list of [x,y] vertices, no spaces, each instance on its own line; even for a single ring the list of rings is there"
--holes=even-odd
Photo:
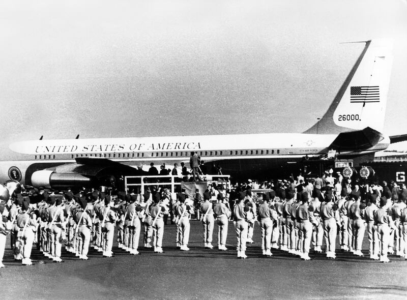
[[[10,144],[21,154],[101,154],[156,151],[216,151],[245,149],[323,149],[336,135],[302,133],[238,134],[102,139],[31,140]],[[303,153],[293,153],[303,154]]]

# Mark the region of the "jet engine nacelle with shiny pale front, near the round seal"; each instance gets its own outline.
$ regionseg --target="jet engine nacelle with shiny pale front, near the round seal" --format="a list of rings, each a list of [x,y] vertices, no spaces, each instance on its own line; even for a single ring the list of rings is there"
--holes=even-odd
[[[35,171],[31,175],[33,187],[61,189],[69,187],[88,187],[93,184],[92,178],[78,173],[57,173],[52,170]]]

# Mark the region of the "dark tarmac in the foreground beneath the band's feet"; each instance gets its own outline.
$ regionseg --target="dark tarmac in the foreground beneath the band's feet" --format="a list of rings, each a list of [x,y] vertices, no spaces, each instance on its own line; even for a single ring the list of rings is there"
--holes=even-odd
[[[90,250],[83,261],[63,248],[62,263],[47,260],[33,249],[35,264],[14,261],[7,238],[0,269],[2,299],[406,299],[407,260],[390,255],[391,263],[369,259],[367,236],[365,257],[337,250],[337,259],[311,251],[304,261],[272,249],[273,256],[261,256],[260,229],[255,224],[247,259],[236,257],[236,234],[229,222],[229,251],[203,248],[203,230],[191,220],[190,251],[176,249],[175,225],[164,228],[164,253],[139,248],[130,255],[117,247],[114,257],[102,258]],[[142,246],[142,234],[140,234]],[[43,262],[43,263],[41,263]]]

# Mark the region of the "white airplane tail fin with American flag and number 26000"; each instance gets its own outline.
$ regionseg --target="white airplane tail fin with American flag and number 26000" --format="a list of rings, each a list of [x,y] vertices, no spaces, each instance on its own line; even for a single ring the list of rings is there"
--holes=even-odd
[[[338,134],[370,127],[382,132],[392,65],[392,41],[371,40],[325,115],[304,133]]]

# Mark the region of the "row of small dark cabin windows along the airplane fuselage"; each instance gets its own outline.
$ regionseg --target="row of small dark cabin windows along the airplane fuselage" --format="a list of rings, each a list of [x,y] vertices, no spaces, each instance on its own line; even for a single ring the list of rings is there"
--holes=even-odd
[[[212,156],[212,155],[223,155],[223,151],[200,151],[197,154],[200,156]],[[274,154],[274,149],[269,151],[269,150],[240,150],[240,151],[230,151],[229,155],[258,155],[258,154]],[[280,150],[277,150],[277,154],[280,154]],[[152,152],[151,157],[172,157],[172,156],[183,156],[184,152]],[[189,152],[185,152],[185,155],[188,156]],[[75,157],[103,157],[103,158],[133,158],[133,157],[144,157],[144,153],[108,153],[108,154],[71,154],[71,158]],[[35,159],[55,159],[55,155],[36,155]]]

